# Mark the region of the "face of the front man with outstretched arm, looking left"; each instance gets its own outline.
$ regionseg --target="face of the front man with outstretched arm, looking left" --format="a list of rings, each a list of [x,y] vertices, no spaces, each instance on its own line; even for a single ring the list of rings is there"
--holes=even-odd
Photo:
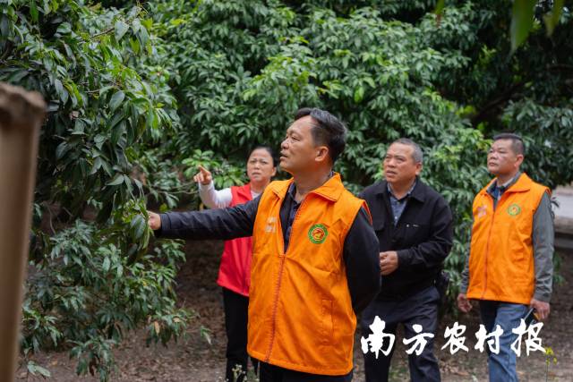
[[[312,117],[297,119],[286,129],[285,140],[280,144],[280,167],[292,175],[308,172],[314,167],[320,148],[312,138]]]

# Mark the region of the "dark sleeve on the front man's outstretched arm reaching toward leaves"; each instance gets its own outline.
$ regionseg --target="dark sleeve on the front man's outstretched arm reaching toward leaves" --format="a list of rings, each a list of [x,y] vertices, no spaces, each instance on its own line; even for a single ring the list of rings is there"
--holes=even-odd
[[[156,237],[168,239],[230,240],[252,236],[261,197],[229,208],[160,214],[161,228]]]

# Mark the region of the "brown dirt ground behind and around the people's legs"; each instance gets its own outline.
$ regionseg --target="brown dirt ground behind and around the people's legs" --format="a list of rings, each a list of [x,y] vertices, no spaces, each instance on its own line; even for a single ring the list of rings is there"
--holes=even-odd
[[[221,242],[188,243],[187,261],[177,276],[177,293],[180,303],[199,313],[187,331],[186,338],[168,347],[151,345],[146,347],[144,333],[134,333],[115,351],[118,370],[114,381],[222,381],[225,375],[225,327],[223,301],[220,288],[215,283],[218,272],[218,254]],[[540,337],[543,346],[549,346],[555,353],[546,362],[542,352],[533,352],[528,357],[524,353],[517,361],[517,371],[521,381],[573,381],[573,251],[561,253],[563,259],[561,275],[565,282],[555,288],[552,298],[552,313],[545,323]],[[440,350],[446,343],[443,338],[447,326],[454,322],[466,325],[466,346],[469,352],[450,354],[448,349]],[[210,330],[211,344],[201,337],[199,327]],[[475,332],[479,327],[477,311],[469,315],[445,316],[440,321],[436,335],[436,354],[440,361],[442,380],[448,381],[487,381],[485,353],[474,349]],[[398,333],[399,335],[399,333]],[[397,339],[397,350],[392,360],[391,380],[408,380],[406,348]],[[360,334],[356,334],[355,380],[363,380],[363,361],[360,351]],[[75,364],[67,353],[43,353],[35,361],[47,366],[56,381],[95,381],[97,378],[80,378],[75,375]],[[19,369],[18,380],[39,380],[28,376]]]

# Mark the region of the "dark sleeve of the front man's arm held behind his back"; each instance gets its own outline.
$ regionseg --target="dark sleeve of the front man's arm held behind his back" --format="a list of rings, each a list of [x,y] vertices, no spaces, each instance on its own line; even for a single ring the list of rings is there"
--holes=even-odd
[[[368,213],[361,208],[346,234],[344,261],[348,290],[355,314],[360,313],[380,292],[378,238]]]

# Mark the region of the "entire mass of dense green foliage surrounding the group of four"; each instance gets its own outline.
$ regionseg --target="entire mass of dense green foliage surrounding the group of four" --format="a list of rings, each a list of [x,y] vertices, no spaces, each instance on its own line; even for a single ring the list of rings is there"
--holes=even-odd
[[[127,331],[180,335],[191,317],[173,292],[184,254],[173,242],[148,250],[146,207],[194,207],[198,164],[219,187],[242,182],[245,153],[278,148],[300,106],[347,123],[336,170],[352,191],[381,176],[391,140],[420,143],[423,179],[456,217],[451,295],[492,133],[524,135],[526,170],[540,182],[573,180],[569,2],[551,37],[555,23],[542,20],[552,2],[538,2],[518,48],[509,1],[445,2],[438,17],[429,0],[133,3],[0,3],[0,81],[50,105],[25,354],[70,348],[78,372],[106,379]]]

